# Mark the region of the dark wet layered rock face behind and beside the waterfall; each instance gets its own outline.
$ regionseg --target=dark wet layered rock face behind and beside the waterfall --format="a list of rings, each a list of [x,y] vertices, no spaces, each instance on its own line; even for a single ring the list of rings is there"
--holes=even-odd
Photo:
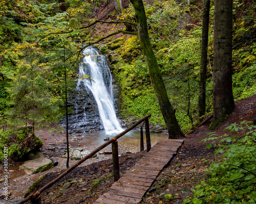
[[[92,49],[95,52],[95,49]],[[108,63],[104,62],[104,57],[99,57],[100,59],[96,61],[98,66],[102,66],[101,64],[105,64],[105,68],[102,68],[102,77],[106,87],[106,91],[110,93],[110,95],[114,95],[113,101],[115,108],[120,108],[119,105],[119,94],[118,85],[114,86],[114,90],[112,93],[112,77],[110,74],[110,70],[108,68]],[[79,74],[81,71],[83,74],[91,75],[91,65],[87,65],[87,62],[84,62],[83,65],[78,68]],[[95,79],[96,80],[96,79]],[[94,82],[92,82],[94,83]],[[100,119],[100,114],[98,110],[98,105],[94,95],[87,86],[84,85],[83,81],[78,81],[77,87],[70,93],[68,106],[72,111],[69,112],[69,133],[70,134],[82,134],[82,133],[91,133],[97,131],[103,131],[103,123],[102,119]],[[60,125],[63,126],[64,130],[66,130],[66,117],[60,119]]]

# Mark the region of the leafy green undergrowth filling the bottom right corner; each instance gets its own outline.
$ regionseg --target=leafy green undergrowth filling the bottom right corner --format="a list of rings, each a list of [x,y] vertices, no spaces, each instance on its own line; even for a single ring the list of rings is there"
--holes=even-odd
[[[207,145],[219,146],[215,155],[222,154],[221,161],[209,167],[209,179],[197,185],[194,198],[201,202],[212,203],[255,203],[256,202],[256,126],[251,122],[230,124],[225,130],[230,136],[218,136],[211,133],[202,141],[217,140],[217,143]],[[235,135],[232,132],[237,132]],[[231,134],[232,133],[232,134]],[[204,196],[203,196],[204,195]],[[191,199],[184,203],[193,202]],[[195,203],[195,202],[194,202]]]

